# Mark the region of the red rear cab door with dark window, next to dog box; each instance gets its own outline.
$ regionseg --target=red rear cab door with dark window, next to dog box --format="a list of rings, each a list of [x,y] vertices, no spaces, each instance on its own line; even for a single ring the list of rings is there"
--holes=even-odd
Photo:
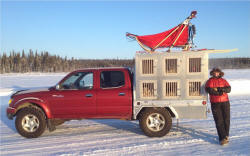
[[[126,70],[100,70],[97,114],[103,118],[129,118],[132,114],[131,82]]]

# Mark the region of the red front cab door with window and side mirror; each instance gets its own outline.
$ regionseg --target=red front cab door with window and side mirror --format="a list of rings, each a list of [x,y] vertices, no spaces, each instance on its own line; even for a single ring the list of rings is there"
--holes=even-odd
[[[96,114],[93,72],[76,72],[59,84],[50,97],[54,118],[84,118]]]

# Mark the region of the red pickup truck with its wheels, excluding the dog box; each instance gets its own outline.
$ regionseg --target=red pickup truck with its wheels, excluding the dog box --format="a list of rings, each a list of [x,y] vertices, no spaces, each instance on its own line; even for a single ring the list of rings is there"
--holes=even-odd
[[[65,121],[86,118],[139,119],[151,137],[166,135],[172,126],[171,112],[164,107],[143,108],[133,115],[133,77],[128,68],[77,70],[53,87],[17,91],[7,108],[8,118],[16,117],[17,131],[27,138],[40,136],[47,127],[53,131]]]

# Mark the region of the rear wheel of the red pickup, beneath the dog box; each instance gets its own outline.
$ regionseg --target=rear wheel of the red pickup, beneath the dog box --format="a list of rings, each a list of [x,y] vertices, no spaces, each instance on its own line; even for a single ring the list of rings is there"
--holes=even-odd
[[[149,137],[165,136],[172,127],[172,118],[164,108],[146,109],[139,119],[140,128]]]

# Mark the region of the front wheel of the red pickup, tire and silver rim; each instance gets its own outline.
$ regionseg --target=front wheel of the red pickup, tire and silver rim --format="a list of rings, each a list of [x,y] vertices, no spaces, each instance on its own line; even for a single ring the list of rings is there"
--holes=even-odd
[[[46,117],[39,109],[24,108],[17,113],[15,125],[20,135],[37,138],[46,128]]]

